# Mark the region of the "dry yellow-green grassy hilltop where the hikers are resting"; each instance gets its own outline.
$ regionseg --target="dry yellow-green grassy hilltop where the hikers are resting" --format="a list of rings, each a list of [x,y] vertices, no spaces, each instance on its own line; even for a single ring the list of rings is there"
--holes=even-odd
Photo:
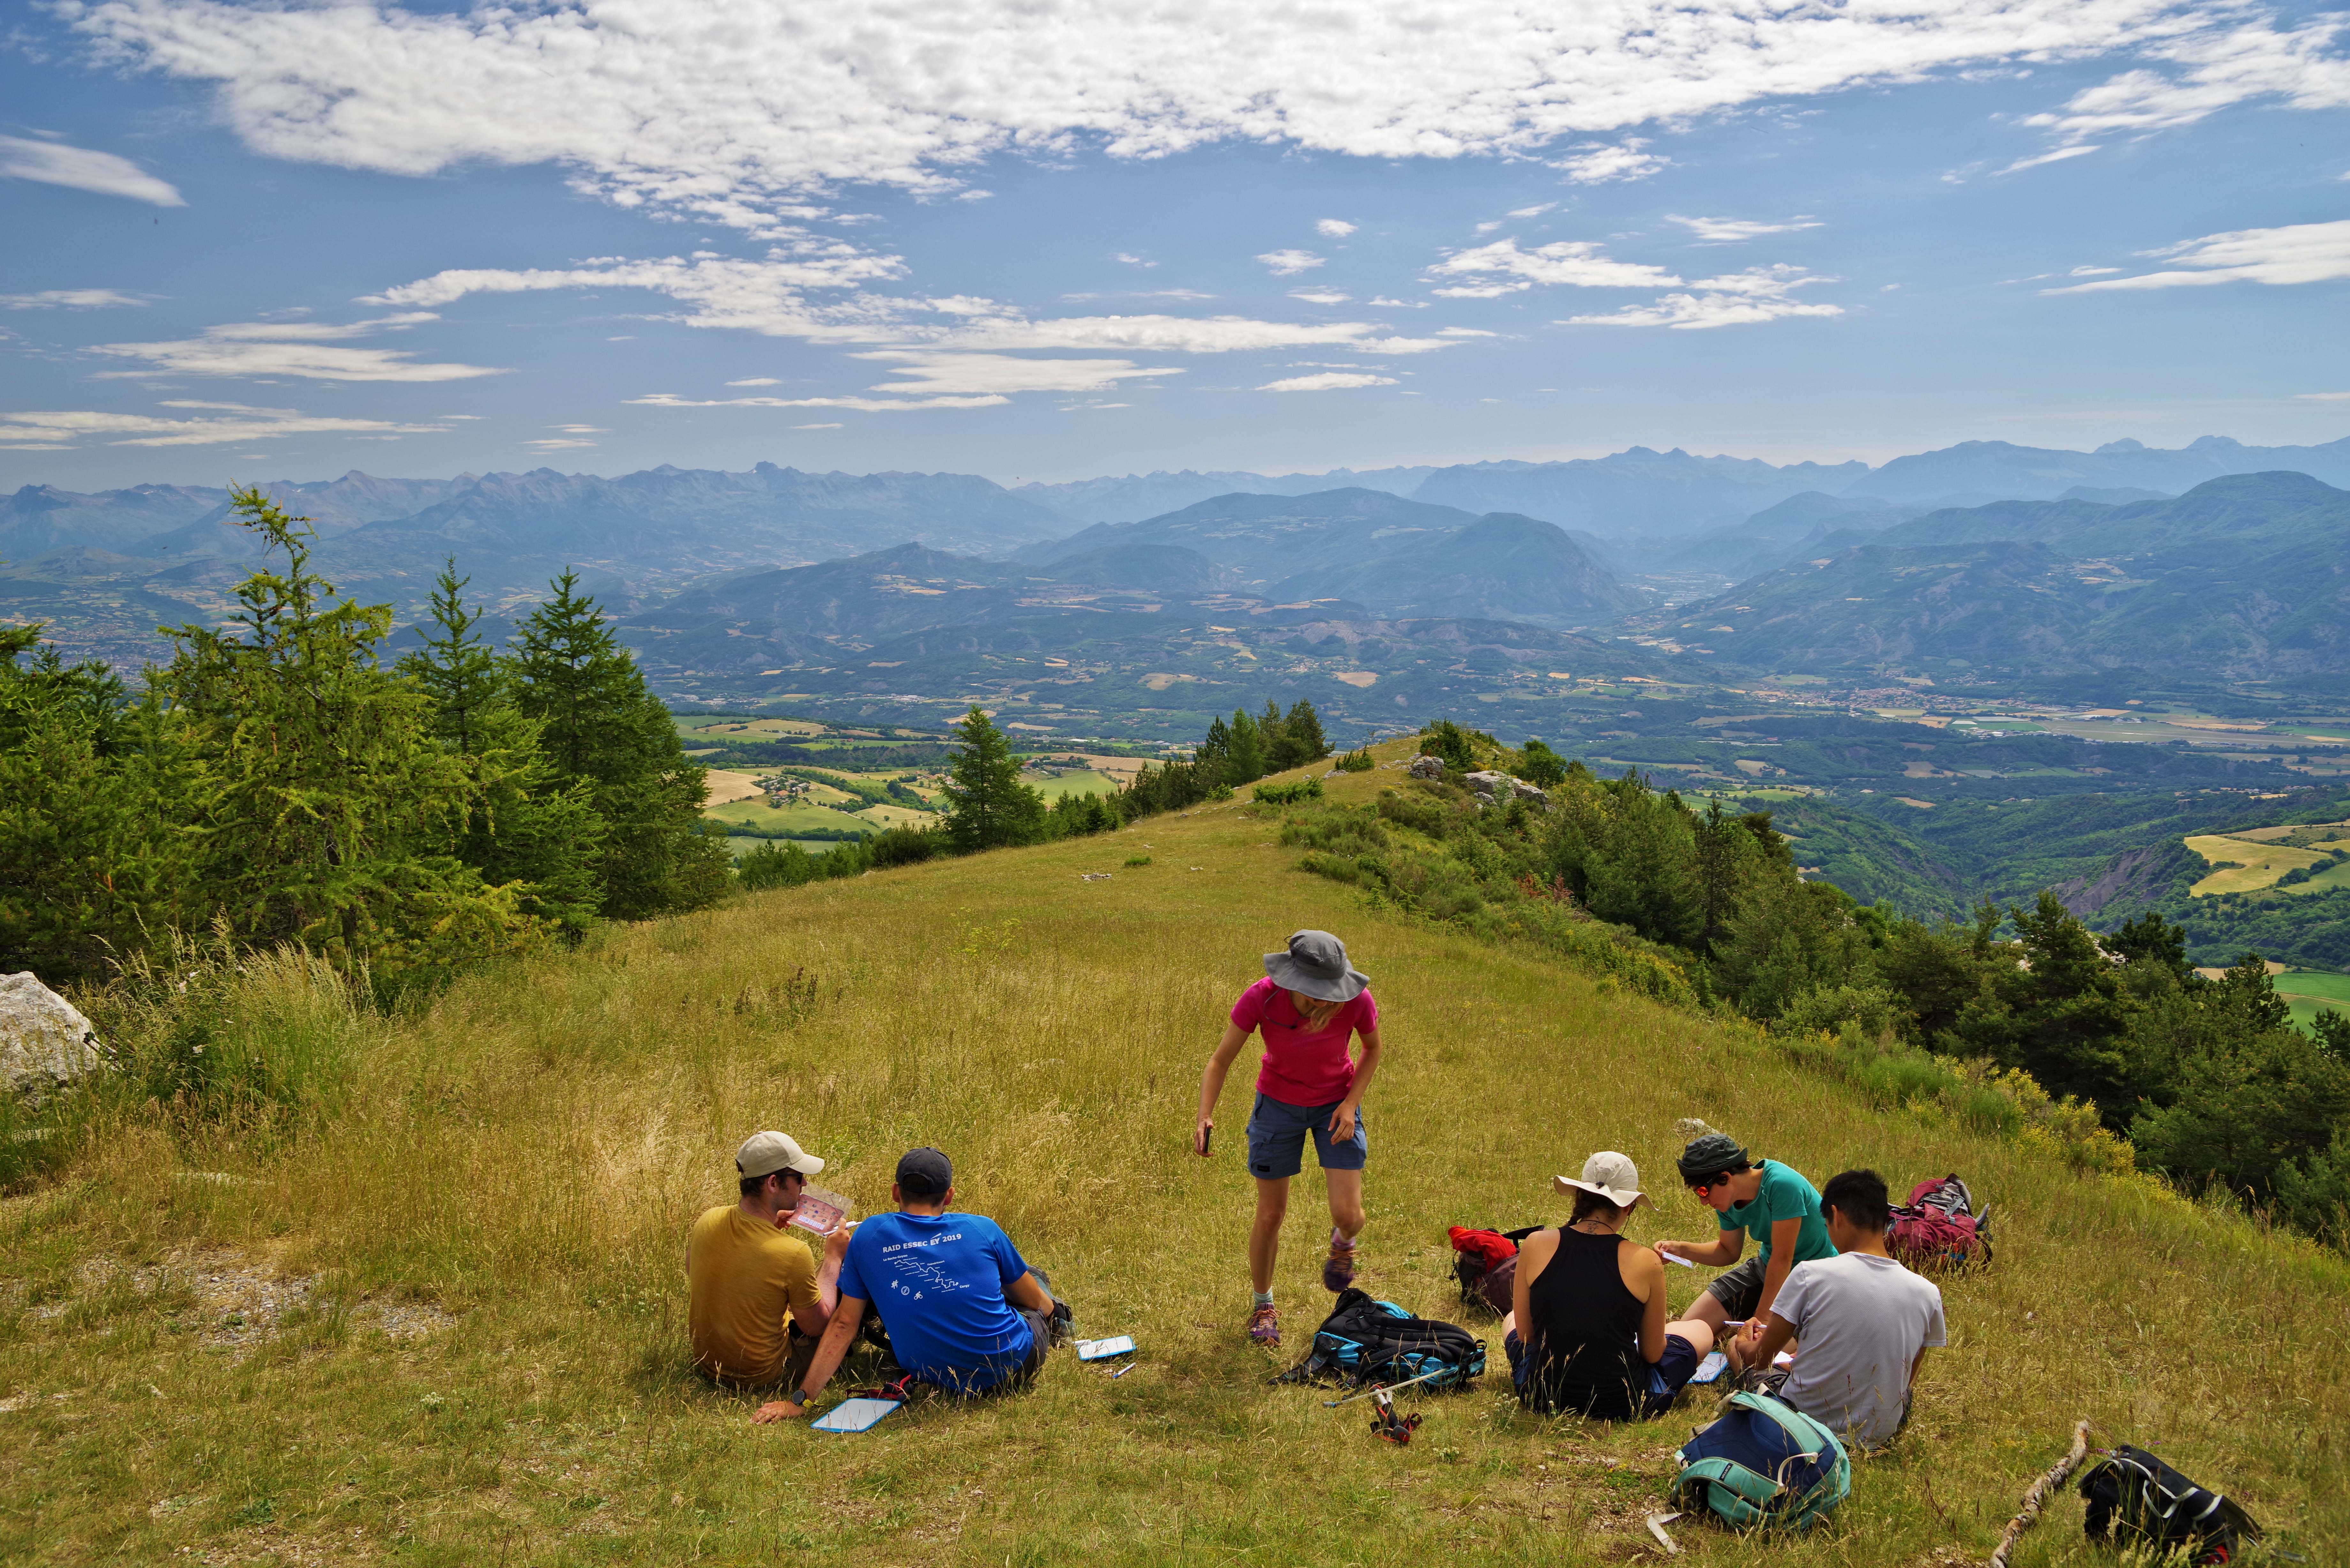
[[[1704,1237],[1671,1178],[1673,1121],[1701,1114],[1814,1178],[1960,1171],[1998,1208],[2000,1255],[1943,1286],[1950,1349],[1828,1528],[1683,1521],[1685,1559],[1979,1561],[2089,1418],[2310,1561],[2350,1561],[2338,1255],[1873,1110],[1744,1027],[1365,907],[1276,837],[1278,809],[1234,802],[745,896],[395,1018],[303,964],[249,964],[197,1041],[275,1063],[301,1112],[101,1093],[61,1166],[0,1199],[0,1559],[1654,1559],[1640,1519],[1706,1401],[1636,1427],[1518,1413],[1443,1227],[1556,1220],[1549,1178],[1619,1147],[1661,1201],[1631,1234]],[[1222,1013],[1297,926],[1340,931],[1384,1013],[1363,1284],[1492,1349],[1471,1392],[1419,1401],[1408,1450],[1358,1408],[1267,1387],[1328,1302],[1311,1168],[1276,1286],[1290,1342],[1241,1338],[1246,1077],[1215,1159],[1187,1152]],[[101,1023],[162,1039],[153,1018]],[[731,1201],[731,1150],[759,1126],[832,1159],[822,1180],[860,1208],[886,1204],[905,1147],[949,1150],[961,1206],[1003,1220],[1083,1333],[1133,1333],[1137,1371],[1109,1382],[1060,1352],[1032,1394],[865,1436],[750,1427],[754,1401],[689,1371],[682,1237]],[[1673,1274],[1678,1307],[1706,1276]],[[2016,1561],[2113,1559],[2061,1500]]]

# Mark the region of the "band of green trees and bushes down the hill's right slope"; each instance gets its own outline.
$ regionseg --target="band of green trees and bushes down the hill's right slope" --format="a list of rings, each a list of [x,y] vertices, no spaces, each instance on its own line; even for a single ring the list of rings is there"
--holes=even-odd
[[[1699,806],[1452,724],[1422,745],[1448,755],[1445,778],[1290,825],[1321,851],[1311,870],[1471,926],[1542,929],[1525,919],[1539,910],[1605,922],[1666,954],[1699,1006],[2030,1074],[2094,1107],[2138,1166],[2350,1244],[2350,1020],[2294,1027],[2261,954],[2214,980],[2160,912],[2096,936],[2047,891],[1983,900],[1969,922],[1911,919],[1805,879],[1770,811]],[[1459,778],[1478,759],[1544,776],[1549,806],[1480,806]]]

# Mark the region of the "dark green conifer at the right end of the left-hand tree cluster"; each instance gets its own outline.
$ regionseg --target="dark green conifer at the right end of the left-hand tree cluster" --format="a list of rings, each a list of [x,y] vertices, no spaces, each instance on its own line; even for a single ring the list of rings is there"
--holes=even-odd
[[[508,677],[515,705],[540,724],[540,752],[604,820],[602,912],[644,919],[717,900],[733,872],[724,839],[703,832],[703,769],[597,602],[576,592],[578,574],[552,590],[517,628]]]

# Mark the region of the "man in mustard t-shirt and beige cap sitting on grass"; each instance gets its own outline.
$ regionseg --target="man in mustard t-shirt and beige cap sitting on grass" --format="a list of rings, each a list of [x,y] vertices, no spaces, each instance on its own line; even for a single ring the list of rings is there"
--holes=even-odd
[[[825,1161],[783,1133],[736,1152],[740,1201],[710,1208],[686,1234],[693,1366],[721,1385],[764,1389],[806,1373],[839,1302],[851,1225],[825,1237],[818,1267],[783,1229]]]

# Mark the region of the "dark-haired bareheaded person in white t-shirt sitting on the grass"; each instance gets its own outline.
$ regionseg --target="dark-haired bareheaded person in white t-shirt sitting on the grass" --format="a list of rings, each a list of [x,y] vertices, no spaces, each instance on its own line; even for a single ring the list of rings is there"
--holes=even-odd
[[[1908,1422],[1925,1352],[1950,1342],[1941,1291],[1885,1251],[1892,1204],[1882,1175],[1831,1175],[1819,1206],[1838,1255],[1798,1262],[1760,1338],[1741,1333],[1725,1349],[1741,1387],[1777,1394],[1854,1448],[1882,1448]],[[1774,1368],[1788,1340],[1795,1359]]]

